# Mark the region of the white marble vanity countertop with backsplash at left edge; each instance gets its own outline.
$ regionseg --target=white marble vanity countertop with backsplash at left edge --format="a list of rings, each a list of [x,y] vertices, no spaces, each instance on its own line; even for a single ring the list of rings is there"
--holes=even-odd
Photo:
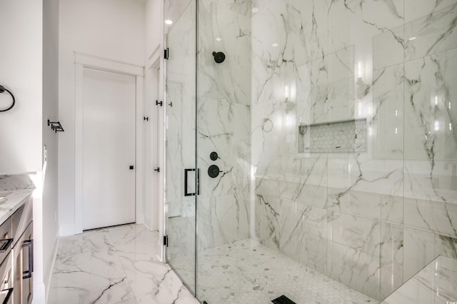
[[[29,201],[34,190],[28,174],[0,176],[0,225]]]

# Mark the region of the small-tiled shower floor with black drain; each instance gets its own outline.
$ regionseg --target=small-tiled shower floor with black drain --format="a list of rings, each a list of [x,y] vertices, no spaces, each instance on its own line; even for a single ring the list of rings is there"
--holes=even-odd
[[[189,263],[179,261],[174,267],[186,271]],[[201,251],[198,265],[197,293],[209,304],[271,304],[281,295],[297,304],[378,303],[251,240]]]

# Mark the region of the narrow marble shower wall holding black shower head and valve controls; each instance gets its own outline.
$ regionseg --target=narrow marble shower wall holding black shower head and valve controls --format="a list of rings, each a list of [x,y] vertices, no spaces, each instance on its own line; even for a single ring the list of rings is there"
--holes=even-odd
[[[251,5],[200,0],[197,23],[198,250],[249,238]],[[226,59],[214,61],[213,52]],[[219,158],[211,161],[215,151]],[[221,173],[209,177],[209,166]]]

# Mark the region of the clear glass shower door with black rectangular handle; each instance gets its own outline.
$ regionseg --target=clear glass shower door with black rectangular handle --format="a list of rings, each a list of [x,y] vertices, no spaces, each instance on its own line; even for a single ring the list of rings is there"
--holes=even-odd
[[[196,1],[166,35],[166,259],[195,293]]]

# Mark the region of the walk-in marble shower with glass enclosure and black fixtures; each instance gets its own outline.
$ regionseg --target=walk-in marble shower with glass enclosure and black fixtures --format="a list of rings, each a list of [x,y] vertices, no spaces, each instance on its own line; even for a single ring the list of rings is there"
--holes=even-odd
[[[167,260],[202,303],[377,303],[457,258],[457,1],[164,8]]]

